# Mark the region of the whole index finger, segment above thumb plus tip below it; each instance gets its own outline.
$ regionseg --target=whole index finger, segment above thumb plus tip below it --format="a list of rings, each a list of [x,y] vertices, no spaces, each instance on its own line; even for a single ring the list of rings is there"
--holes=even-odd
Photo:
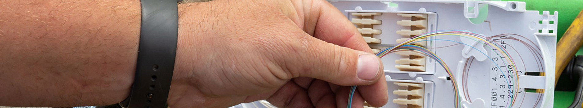
[[[319,8],[320,12],[318,12],[320,14],[318,15],[319,18],[317,23],[315,23],[315,37],[329,43],[339,44],[343,47],[370,52],[370,48],[367,46],[366,42],[359,38],[361,35],[358,30],[356,30],[356,27],[346,19],[346,16],[343,15],[342,12],[329,4],[329,2],[315,0],[314,4],[318,5],[313,6],[321,7]],[[313,22],[314,20],[306,21]],[[382,77],[382,75],[378,82],[375,82],[373,85],[359,86],[358,90],[366,91],[361,92],[360,95],[362,95],[364,100],[367,100],[371,106],[381,107],[387,103],[387,82],[385,82],[385,78]]]

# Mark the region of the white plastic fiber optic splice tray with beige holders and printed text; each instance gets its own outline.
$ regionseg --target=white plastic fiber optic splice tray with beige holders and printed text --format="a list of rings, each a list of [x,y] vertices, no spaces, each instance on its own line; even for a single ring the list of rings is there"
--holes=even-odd
[[[553,107],[558,12],[526,11],[525,2],[329,2],[357,26],[375,53],[419,34],[466,30],[488,37],[508,54],[500,55],[483,41],[448,34],[416,40],[411,44],[435,53],[452,76],[422,53],[388,54],[381,58],[389,87],[389,102],[382,107]]]

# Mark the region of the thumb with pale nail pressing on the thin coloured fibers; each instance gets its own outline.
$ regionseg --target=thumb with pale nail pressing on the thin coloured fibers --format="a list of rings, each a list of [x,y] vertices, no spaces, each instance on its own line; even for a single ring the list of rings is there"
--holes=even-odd
[[[353,36],[350,39],[364,40]],[[349,39],[349,40],[350,40]],[[364,51],[352,50],[310,37],[308,46],[298,54],[301,62],[300,76],[321,79],[336,85],[370,85],[382,74],[380,58]],[[297,60],[301,60],[297,59]]]

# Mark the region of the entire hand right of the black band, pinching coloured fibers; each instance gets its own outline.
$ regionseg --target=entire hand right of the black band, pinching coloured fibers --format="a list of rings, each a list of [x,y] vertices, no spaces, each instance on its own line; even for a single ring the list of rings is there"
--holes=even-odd
[[[179,10],[170,107],[263,99],[278,107],[346,107],[352,85],[366,85],[353,107],[387,103],[379,58],[324,0],[215,0]]]

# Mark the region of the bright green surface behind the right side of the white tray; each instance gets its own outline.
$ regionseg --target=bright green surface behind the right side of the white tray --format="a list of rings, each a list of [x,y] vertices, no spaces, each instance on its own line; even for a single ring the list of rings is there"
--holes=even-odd
[[[565,31],[571,25],[571,22],[577,17],[581,9],[583,9],[583,1],[582,0],[503,0],[503,1],[522,1],[526,2],[526,10],[529,11],[540,11],[542,14],[543,11],[550,11],[553,13],[554,11],[559,12],[559,25],[557,28],[557,39],[560,39]],[[558,40],[557,40],[558,41]],[[583,50],[579,50],[577,55],[583,55]],[[573,102],[573,98],[575,96],[575,92],[564,92],[564,91],[555,91],[554,94],[554,107],[555,108],[563,108],[568,107],[571,102]]]

